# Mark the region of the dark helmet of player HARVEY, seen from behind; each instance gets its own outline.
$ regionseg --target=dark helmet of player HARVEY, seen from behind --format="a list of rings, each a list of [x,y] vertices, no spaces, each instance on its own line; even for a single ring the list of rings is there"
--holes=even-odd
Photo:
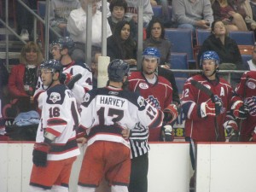
[[[108,65],[108,79],[115,82],[122,82],[129,71],[128,63],[123,60],[115,59]]]

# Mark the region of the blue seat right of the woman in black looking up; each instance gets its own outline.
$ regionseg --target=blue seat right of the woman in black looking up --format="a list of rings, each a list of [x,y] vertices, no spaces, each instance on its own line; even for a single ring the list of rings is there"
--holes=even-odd
[[[233,38],[238,45],[253,45],[255,42],[254,32],[234,31],[229,33],[230,38]]]

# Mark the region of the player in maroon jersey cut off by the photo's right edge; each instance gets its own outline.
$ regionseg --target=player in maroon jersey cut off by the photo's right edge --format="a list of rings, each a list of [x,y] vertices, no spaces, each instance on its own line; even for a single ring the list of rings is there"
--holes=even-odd
[[[239,141],[256,142],[256,72],[243,73],[241,82],[237,84],[232,97],[231,107],[233,114],[240,119],[241,129]],[[231,130],[235,131],[236,130]]]

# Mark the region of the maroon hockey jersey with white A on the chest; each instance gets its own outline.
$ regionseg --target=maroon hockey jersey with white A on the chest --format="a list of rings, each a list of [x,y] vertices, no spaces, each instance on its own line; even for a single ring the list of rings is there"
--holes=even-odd
[[[218,79],[217,81],[210,82],[202,75],[195,75],[188,79],[183,87],[182,107],[183,113],[186,117],[185,121],[185,137],[191,137],[195,141],[200,142],[214,142],[216,141],[214,117],[207,116],[201,118],[198,114],[198,108],[200,108],[202,102],[207,102],[210,96],[207,96],[205,92],[198,90],[194,85],[190,83],[191,79],[195,79],[199,83],[205,85],[208,89],[212,90],[212,93],[218,96],[223,107],[221,113],[217,118],[218,129],[218,141],[224,141],[224,122],[231,117],[227,115],[230,111],[230,101],[232,97],[232,88],[228,82],[224,79]]]

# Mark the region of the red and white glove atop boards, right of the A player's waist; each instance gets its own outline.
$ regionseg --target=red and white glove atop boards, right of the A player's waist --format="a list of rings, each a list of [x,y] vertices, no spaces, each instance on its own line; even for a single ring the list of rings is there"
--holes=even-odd
[[[228,120],[224,123],[224,129],[229,137],[229,142],[239,142],[238,126],[235,120]]]

